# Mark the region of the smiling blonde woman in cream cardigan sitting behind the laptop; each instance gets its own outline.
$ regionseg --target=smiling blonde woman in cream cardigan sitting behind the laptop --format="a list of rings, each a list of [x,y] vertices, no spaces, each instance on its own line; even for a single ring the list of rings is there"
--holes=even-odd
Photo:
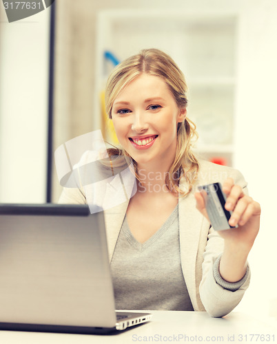
[[[116,308],[232,311],[249,285],[247,255],[258,234],[260,206],[236,170],[192,153],[187,85],[170,56],[143,50],[118,65],[106,87],[106,109],[132,158],[137,190],[105,211]],[[114,150],[111,150],[114,154]],[[215,232],[196,186],[221,182],[229,224]],[[63,191],[60,202],[85,202]]]

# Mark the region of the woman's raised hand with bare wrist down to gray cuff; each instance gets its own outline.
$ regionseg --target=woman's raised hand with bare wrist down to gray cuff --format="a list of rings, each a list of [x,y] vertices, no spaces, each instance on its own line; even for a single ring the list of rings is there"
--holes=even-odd
[[[219,272],[228,282],[240,281],[247,269],[247,256],[260,228],[260,204],[243,193],[241,186],[234,184],[228,178],[223,184],[223,192],[227,196],[225,209],[233,211],[229,219],[231,226],[238,228],[218,230],[218,235],[224,238],[225,245],[220,259]],[[205,202],[201,193],[195,193],[196,208],[209,221]]]

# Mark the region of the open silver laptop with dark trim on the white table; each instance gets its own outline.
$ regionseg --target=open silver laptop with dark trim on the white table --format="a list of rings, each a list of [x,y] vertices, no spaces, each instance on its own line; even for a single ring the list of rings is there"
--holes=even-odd
[[[149,321],[116,312],[103,212],[0,204],[0,329],[105,334]]]

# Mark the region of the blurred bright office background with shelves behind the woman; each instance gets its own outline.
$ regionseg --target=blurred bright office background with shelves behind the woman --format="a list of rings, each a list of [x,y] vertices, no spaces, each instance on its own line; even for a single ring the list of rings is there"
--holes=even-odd
[[[237,310],[276,324],[277,1],[56,0],[14,23],[0,10],[0,202],[57,202],[54,150],[100,128],[113,140],[101,111],[107,74],[160,48],[187,78],[196,151],[240,169],[262,206]]]

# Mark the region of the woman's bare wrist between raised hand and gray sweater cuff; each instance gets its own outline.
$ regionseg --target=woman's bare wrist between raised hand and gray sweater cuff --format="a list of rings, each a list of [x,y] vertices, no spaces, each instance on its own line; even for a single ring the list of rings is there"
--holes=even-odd
[[[247,270],[247,257],[250,248],[225,241],[223,255],[220,259],[219,272],[227,282],[240,281]]]

